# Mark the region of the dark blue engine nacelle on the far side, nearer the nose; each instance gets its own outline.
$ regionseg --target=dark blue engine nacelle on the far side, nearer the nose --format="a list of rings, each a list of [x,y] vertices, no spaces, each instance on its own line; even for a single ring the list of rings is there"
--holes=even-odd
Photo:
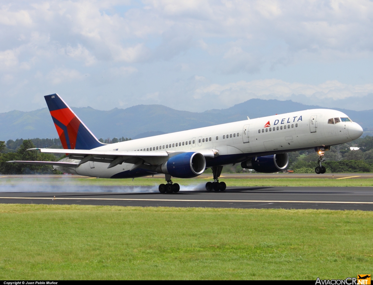
[[[278,172],[289,164],[287,153],[272,154],[266,156],[253,157],[241,163],[242,168],[254,169],[257,172],[273,173]]]

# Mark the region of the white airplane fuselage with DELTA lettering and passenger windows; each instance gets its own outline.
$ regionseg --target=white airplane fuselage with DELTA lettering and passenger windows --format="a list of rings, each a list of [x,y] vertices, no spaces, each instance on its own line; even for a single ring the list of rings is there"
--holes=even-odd
[[[164,150],[172,156],[178,152],[214,149],[219,155],[206,160],[206,167],[211,167],[239,163],[254,156],[347,143],[363,133],[361,126],[352,121],[335,120],[336,123],[330,123],[329,119],[334,118],[339,118],[341,121],[340,118],[348,118],[348,116],[340,111],[329,109],[297,111],[108,144],[95,150]],[[151,164],[160,165],[168,158],[154,157]],[[75,160],[65,158],[61,161]],[[62,166],[55,166],[55,168],[67,173],[101,178],[112,178],[118,173],[126,173],[124,177],[149,175],[149,173],[141,175],[140,172],[131,174],[130,163],[122,163],[109,169],[107,166],[107,163],[90,161],[77,168]]]

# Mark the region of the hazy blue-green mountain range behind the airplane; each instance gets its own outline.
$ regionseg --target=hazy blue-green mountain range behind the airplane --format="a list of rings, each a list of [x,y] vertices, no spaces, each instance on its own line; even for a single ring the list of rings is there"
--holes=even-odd
[[[137,105],[109,111],[91,107],[72,110],[97,138],[141,138],[186,129],[235,122],[274,114],[322,108],[297,102],[250,99],[226,109],[213,109],[202,113],[175,110],[163,105]],[[365,134],[373,133],[373,110],[353,111],[333,108],[347,114],[359,123]],[[47,108],[23,112],[0,113],[0,140],[16,138],[55,138],[56,129]]]

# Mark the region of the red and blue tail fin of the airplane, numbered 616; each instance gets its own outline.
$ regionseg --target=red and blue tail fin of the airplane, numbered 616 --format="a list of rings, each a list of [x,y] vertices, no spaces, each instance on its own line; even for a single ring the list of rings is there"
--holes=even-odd
[[[63,148],[90,150],[104,145],[58,94],[44,96]]]

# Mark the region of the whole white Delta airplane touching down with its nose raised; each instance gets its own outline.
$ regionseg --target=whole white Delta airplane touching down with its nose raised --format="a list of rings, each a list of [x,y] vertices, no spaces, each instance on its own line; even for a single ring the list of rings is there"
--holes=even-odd
[[[178,192],[172,177],[192,178],[211,168],[207,191],[224,191],[219,182],[224,165],[241,163],[257,172],[283,171],[288,153],[314,148],[319,155],[317,174],[325,173],[323,155],[331,145],[356,140],[360,125],[346,114],[311,109],[222,125],[191,129],[137,140],[104,144],[76,116],[58,94],[44,96],[63,149],[32,148],[42,153],[66,153],[58,162],[9,161],[53,165],[59,171],[100,178],[136,178],[164,174],[160,193]]]

